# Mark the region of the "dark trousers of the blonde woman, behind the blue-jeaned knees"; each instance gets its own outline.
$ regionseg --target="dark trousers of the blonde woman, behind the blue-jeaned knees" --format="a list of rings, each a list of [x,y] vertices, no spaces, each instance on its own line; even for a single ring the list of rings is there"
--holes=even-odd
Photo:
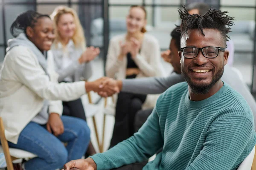
[[[81,98],[70,102],[62,102],[62,104],[63,115],[77,117],[80,119],[84,119],[86,121],[86,116]]]

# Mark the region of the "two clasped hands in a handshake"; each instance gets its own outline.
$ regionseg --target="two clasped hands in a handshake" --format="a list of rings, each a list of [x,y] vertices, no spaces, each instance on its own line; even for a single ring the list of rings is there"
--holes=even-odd
[[[109,77],[102,77],[92,82],[85,83],[86,92],[94,91],[102,97],[112,96],[122,89],[122,81]]]

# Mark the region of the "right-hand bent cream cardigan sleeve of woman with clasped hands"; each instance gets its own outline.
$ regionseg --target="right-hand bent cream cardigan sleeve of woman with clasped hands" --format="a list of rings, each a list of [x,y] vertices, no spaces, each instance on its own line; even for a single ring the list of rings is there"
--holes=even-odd
[[[147,50],[150,51],[149,54],[149,62],[146,61],[145,57],[141,54],[138,54],[137,57],[134,58],[134,62],[140,68],[140,71],[143,72],[147,77],[157,76],[157,68],[160,65],[160,45],[157,40],[152,40],[152,42],[148,45]]]

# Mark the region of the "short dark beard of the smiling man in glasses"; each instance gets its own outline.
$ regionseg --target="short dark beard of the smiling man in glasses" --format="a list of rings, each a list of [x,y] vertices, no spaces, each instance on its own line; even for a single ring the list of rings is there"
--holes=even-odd
[[[210,84],[203,84],[203,85],[196,85],[192,82],[188,74],[185,73],[183,65],[181,66],[181,74],[185,78],[186,82],[188,83],[191,92],[193,94],[207,94],[209,93],[209,90],[212,88],[213,85],[215,85],[216,82],[218,82],[219,79],[221,79],[224,72],[224,65],[222,68],[220,68],[215,75],[212,77],[212,82]]]

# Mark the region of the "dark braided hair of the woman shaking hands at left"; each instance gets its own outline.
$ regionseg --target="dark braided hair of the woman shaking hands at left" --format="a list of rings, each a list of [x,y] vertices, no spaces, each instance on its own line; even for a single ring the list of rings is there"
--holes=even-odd
[[[10,28],[12,36],[17,37],[21,32],[24,32],[26,34],[26,28],[33,28],[37,20],[41,17],[50,18],[49,15],[39,14],[38,12],[33,10],[21,13],[20,15],[17,16],[17,18],[12,23],[12,26]]]

